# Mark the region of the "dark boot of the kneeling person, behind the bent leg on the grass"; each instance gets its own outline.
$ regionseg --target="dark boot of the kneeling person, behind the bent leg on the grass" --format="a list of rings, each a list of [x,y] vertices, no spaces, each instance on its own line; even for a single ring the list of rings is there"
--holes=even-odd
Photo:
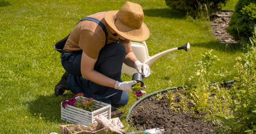
[[[68,90],[67,76],[68,72],[66,71],[61,77],[60,82],[55,85],[54,93],[56,97],[62,97],[65,90]]]

